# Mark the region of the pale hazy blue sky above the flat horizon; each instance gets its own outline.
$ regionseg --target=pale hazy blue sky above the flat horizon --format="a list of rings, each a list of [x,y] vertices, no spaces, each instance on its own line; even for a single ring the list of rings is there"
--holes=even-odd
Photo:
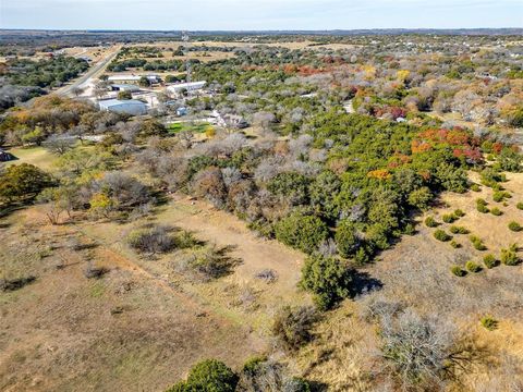
[[[523,27],[523,0],[0,0],[2,28]]]

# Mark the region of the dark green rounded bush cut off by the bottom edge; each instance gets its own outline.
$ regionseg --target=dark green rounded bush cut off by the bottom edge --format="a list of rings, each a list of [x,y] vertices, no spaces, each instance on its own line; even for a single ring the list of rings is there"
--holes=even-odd
[[[207,359],[191,369],[186,381],[174,384],[167,392],[234,392],[236,383],[238,376],[226,364]]]

